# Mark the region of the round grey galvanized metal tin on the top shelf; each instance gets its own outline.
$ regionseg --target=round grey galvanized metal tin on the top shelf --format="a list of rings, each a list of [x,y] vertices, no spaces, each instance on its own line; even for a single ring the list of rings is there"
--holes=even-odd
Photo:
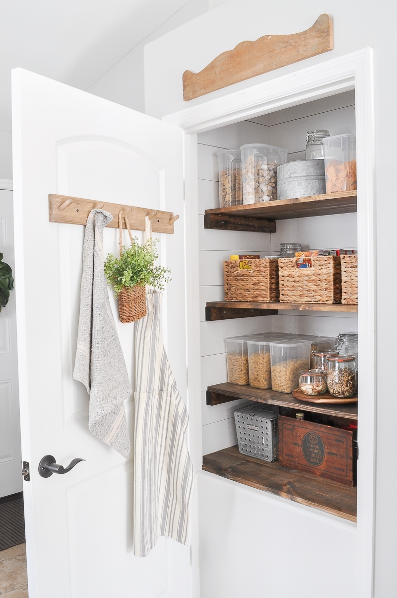
[[[297,160],[277,168],[277,199],[325,193],[324,160]]]

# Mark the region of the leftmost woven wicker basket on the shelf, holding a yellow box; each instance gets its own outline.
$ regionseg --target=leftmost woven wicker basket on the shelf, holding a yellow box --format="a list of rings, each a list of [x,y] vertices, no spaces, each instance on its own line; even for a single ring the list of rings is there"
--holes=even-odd
[[[240,261],[224,261],[225,301],[278,301],[279,260],[252,260],[251,270]]]

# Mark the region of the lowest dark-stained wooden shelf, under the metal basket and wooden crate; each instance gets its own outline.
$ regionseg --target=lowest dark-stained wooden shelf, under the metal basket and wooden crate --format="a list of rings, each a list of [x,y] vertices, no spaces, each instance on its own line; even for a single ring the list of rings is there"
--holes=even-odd
[[[228,480],[270,492],[301,505],[356,521],[357,491],[316,475],[240,454],[237,446],[203,457],[203,469]]]

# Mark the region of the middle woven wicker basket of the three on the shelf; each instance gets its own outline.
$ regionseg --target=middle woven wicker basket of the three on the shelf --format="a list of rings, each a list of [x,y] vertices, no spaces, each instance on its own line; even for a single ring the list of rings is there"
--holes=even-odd
[[[279,260],[280,301],[286,303],[340,303],[340,257],[312,257],[311,268],[297,268],[297,258]]]

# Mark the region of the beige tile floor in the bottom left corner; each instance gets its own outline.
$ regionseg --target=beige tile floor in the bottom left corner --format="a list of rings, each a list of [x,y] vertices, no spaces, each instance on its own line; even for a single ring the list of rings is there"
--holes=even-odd
[[[28,598],[25,544],[0,552],[0,597]]]

